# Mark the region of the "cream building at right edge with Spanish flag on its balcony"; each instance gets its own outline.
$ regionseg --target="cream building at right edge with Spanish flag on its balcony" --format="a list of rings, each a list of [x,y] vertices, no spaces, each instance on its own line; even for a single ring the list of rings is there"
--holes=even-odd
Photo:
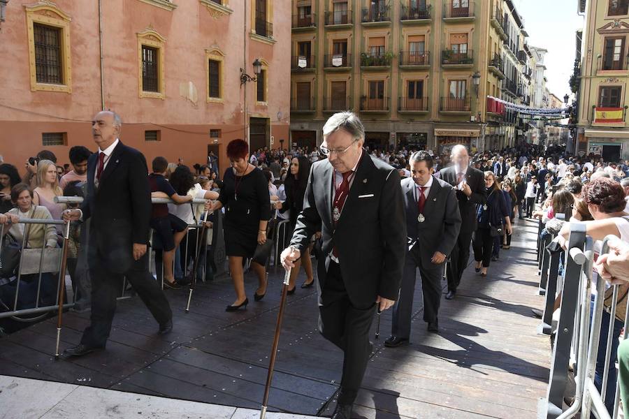
[[[588,0],[583,11],[577,152],[629,159],[629,2]]]

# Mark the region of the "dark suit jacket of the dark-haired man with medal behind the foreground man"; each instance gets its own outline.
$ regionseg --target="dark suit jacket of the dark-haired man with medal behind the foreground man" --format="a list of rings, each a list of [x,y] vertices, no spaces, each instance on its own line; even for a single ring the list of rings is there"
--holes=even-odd
[[[424,267],[438,267],[431,262],[435,251],[449,256],[456,244],[458,231],[461,230],[461,213],[458,211],[456,193],[452,186],[441,179],[433,177],[433,185],[428,191],[424,216],[426,221],[417,221],[419,208],[415,194],[415,181],[412,178],[402,180],[402,193],[406,209],[406,230],[408,243],[419,250]]]

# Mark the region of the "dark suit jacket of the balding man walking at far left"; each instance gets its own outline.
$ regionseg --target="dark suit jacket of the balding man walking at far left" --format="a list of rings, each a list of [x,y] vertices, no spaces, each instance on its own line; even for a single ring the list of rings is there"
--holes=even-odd
[[[147,244],[151,216],[148,168],[142,153],[119,142],[94,185],[98,153],[87,159],[87,198],[83,220],[89,227],[91,256],[117,273],[133,265],[133,243]]]

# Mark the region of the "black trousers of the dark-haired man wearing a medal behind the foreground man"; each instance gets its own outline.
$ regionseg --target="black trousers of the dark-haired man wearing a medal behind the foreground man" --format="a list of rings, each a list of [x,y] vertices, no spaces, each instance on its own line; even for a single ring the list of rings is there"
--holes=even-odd
[[[421,274],[421,292],[424,295],[424,321],[426,323],[437,321],[441,302],[443,265],[431,264],[431,266],[425,267],[416,244],[410,251],[406,252],[400,297],[393,306],[393,321],[391,323],[391,335],[393,336],[405,339],[410,337],[417,268]]]

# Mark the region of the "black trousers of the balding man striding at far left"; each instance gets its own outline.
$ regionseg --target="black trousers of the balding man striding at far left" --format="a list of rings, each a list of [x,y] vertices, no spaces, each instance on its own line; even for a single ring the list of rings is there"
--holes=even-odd
[[[116,311],[116,298],[122,293],[123,277],[126,277],[133,286],[133,290],[138,293],[157,323],[163,324],[173,318],[171,305],[166,300],[164,291],[149,273],[147,254],[136,260],[131,269],[124,274],[111,272],[99,255],[95,255],[89,263],[89,275],[92,278],[92,315],[91,324],[83,332],[82,344],[93,348],[106,346]]]

